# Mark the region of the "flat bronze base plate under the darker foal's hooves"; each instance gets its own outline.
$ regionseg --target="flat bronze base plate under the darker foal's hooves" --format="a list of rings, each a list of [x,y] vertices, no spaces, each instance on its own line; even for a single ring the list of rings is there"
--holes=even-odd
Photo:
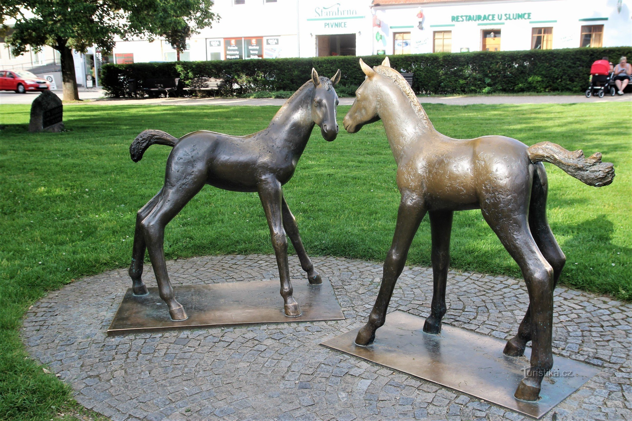
[[[183,305],[189,316],[183,321],[171,319],[157,287],[147,288],[149,294],[140,296],[134,295],[129,288],[107,329],[107,335],[236,324],[344,319],[329,278],[323,276],[320,285],[310,285],[307,280],[294,280],[293,287],[293,295],[301,309],[301,314],[297,317],[288,317],[283,312],[279,281],[174,287],[176,300]]]

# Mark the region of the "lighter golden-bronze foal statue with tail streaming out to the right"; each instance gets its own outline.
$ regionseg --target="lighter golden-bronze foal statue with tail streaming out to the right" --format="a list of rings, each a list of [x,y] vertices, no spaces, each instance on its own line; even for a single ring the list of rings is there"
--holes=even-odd
[[[526,343],[533,341],[531,370],[515,396],[537,400],[542,378],[553,364],[553,290],[566,262],[547,222],[547,174],[540,162],[553,163],[597,187],[612,182],[612,164],[601,162],[600,153],[584,158],[581,151],[570,152],[549,142],[527,147],[504,136],[449,138],[434,129],[408,83],[391,69],[388,58],[375,68],[361,59],[360,66],[367,78],[344,117],[344,128],[356,133],[364,124],[382,119],[398,163],[401,203],[380,292],[356,343],[372,343],[375,330],[384,324],[395,282],[426,213],[432,234],[434,291],[423,331],[441,331],[453,213],[480,208],[525,278],[530,304],[518,335],[507,342],[504,353],[523,355]]]

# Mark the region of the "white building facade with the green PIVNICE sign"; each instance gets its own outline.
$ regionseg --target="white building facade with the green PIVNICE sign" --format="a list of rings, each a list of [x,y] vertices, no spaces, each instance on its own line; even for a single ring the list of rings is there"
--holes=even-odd
[[[193,35],[180,59],[370,55],[371,0],[216,0],[221,19]],[[119,41],[116,62],[174,61],[165,40]]]

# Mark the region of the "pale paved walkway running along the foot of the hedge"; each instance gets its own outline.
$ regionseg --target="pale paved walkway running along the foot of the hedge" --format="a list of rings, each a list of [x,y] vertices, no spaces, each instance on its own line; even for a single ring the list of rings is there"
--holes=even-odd
[[[63,98],[61,91],[54,91]],[[39,93],[25,94],[0,92],[0,104],[31,104]],[[286,102],[283,98],[103,98],[100,90],[83,90],[79,97],[85,102],[82,104],[99,105],[275,105],[280,107]],[[586,98],[584,95],[480,95],[480,96],[449,96],[449,97],[419,97],[422,104],[447,104],[447,105],[471,105],[471,104],[573,104],[595,102],[632,102],[632,94],[608,95],[604,98]],[[353,104],[353,98],[340,98],[340,105]]]

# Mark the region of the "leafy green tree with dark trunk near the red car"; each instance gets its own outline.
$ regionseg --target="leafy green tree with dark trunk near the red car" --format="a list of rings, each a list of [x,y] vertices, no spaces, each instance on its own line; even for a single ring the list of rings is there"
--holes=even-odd
[[[13,27],[7,41],[16,56],[42,45],[58,50],[64,100],[78,100],[73,49],[97,45],[109,51],[117,37],[166,37],[179,56],[191,33],[219,18],[212,5],[212,0],[2,0],[0,30]]]

